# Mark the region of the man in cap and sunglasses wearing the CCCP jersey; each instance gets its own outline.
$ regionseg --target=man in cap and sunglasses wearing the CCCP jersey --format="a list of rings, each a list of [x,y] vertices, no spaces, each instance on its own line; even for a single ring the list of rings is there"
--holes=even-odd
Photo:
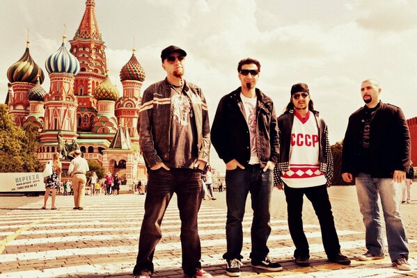
[[[302,220],[303,197],[306,195],[319,219],[327,258],[331,262],[349,265],[350,260],[340,253],[327,194],[327,186],[331,185],[333,177],[327,125],[313,108],[307,84],[292,85],[290,103],[278,117],[278,129],[280,156],[274,169],[274,185],[285,192],[295,263],[310,265]]]

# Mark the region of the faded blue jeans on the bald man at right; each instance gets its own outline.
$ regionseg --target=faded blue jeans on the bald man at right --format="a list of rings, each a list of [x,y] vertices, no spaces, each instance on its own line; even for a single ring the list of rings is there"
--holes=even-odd
[[[366,248],[372,254],[384,256],[384,238],[378,207],[379,195],[384,212],[388,253],[391,261],[400,258],[408,259],[409,256],[407,236],[400,215],[401,190],[401,185],[391,178],[372,178],[370,174],[363,173],[356,176],[356,192],[366,230]]]

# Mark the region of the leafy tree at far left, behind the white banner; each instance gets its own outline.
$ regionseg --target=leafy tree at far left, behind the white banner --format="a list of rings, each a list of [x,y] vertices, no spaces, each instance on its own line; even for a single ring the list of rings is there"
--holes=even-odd
[[[0,104],[0,172],[42,172],[36,157],[38,128],[22,129],[13,121],[6,104]]]

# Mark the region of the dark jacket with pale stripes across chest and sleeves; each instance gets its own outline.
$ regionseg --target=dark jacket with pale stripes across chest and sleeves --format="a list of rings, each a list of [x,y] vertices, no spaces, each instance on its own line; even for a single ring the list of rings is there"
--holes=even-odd
[[[196,124],[198,159],[209,161],[210,123],[207,104],[201,89],[184,81]],[[167,79],[150,85],[143,92],[139,111],[139,146],[148,167],[169,161],[171,130],[171,85]]]

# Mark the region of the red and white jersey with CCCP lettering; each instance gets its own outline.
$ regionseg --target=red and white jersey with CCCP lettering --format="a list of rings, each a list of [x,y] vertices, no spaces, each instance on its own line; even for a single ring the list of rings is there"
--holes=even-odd
[[[308,111],[303,119],[294,111],[291,131],[290,170],[281,173],[281,179],[291,188],[306,188],[326,184],[320,171],[319,136],[314,115]]]

